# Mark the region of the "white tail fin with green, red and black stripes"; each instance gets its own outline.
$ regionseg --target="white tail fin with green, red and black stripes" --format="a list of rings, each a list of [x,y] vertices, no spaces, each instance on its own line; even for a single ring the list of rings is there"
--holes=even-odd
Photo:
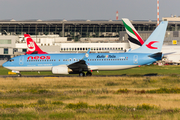
[[[129,36],[130,47],[134,50],[141,47],[144,44],[143,39],[138,34],[132,23],[127,18],[122,18],[123,24],[125,26],[126,32]]]

